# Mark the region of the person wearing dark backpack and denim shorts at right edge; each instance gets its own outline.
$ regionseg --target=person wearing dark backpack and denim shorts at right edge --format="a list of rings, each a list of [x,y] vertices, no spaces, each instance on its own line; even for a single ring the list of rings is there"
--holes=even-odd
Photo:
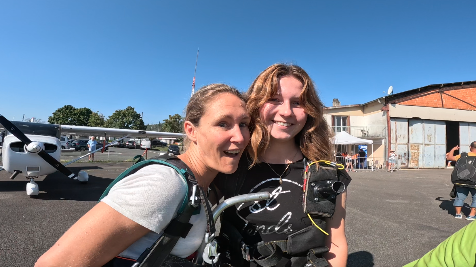
[[[455,169],[451,174],[451,182],[455,185],[456,198],[453,205],[455,206],[456,219],[463,218],[461,208],[464,205],[464,200],[471,193],[473,201],[471,203],[471,212],[466,217],[468,221],[476,220],[476,141],[471,143],[469,152],[463,152],[454,156],[459,146],[453,147],[446,160],[456,161]]]

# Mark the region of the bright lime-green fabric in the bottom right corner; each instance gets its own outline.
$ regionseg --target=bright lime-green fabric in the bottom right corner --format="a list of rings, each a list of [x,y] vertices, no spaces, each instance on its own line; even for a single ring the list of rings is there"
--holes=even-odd
[[[474,267],[476,263],[476,224],[461,228],[425,256],[404,267]]]

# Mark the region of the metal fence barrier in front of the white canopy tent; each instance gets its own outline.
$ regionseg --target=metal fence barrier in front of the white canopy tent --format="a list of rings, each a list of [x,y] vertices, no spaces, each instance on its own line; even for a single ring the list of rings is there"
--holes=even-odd
[[[348,172],[357,171],[400,171],[401,169],[419,169],[418,158],[377,158],[377,157],[336,157],[336,161],[339,164],[344,165]]]

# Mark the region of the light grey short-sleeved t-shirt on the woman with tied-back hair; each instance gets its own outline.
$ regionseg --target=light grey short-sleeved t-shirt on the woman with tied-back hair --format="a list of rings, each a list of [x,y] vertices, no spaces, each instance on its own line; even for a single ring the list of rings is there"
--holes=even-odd
[[[112,186],[101,201],[151,231],[119,256],[137,259],[151,246],[177,216],[186,190],[184,179],[173,168],[160,164],[145,166]],[[197,251],[207,228],[205,208],[201,205],[200,214],[190,218],[190,232],[185,239],[180,237],[171,255],[188,257]]]

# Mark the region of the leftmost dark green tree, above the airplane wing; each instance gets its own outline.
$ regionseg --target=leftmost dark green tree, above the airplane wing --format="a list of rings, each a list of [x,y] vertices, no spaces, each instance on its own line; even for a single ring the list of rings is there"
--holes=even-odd
[[[75,108],[72,105],[60,107],[52,116],[48,117],[49,123],[88,126],[92,111],[89,108]]]

